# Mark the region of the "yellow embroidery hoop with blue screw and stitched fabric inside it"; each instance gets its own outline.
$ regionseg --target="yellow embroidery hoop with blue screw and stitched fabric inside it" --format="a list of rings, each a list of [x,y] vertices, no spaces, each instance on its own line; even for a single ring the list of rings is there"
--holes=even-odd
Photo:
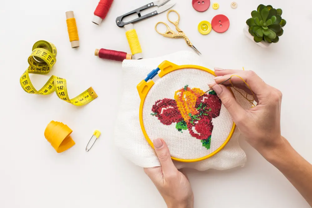
[[[156,75],[160,79],[155,83],[151,79]],[[161,137],[173,160],[196,162],[229,142],[236,125],[217,95],[205,93],[213,77],[214,72],[202,66],[164,61],[139,83],[140,125],[152,147],[152,139]]]

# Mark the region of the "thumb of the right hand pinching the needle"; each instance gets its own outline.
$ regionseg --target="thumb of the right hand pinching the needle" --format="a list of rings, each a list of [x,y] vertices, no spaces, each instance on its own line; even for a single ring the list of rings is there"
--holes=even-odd
[[[212,89],[217,93],[236,124],[246,118],[246,111],[236,102],[234,95],[226,86],[214,85]]]

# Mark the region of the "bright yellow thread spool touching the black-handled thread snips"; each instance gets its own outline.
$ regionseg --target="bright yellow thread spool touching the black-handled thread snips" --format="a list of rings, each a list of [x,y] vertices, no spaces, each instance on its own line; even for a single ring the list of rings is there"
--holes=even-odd
[[[124,28],[126,29],[126,36],[132,55],[134,55],[135,59],[142,59],[142,48],[139,42],[138,34],[136,33],[133,24],[125,25]]]

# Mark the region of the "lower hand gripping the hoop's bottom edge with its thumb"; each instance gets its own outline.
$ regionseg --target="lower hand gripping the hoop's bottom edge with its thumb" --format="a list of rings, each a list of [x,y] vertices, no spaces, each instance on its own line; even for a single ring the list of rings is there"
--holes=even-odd
[[[161,167],[144,168],[168,208],[193,208],[194,195],[187,177],[174,166],[167,144],[154,139],[154,148]]]

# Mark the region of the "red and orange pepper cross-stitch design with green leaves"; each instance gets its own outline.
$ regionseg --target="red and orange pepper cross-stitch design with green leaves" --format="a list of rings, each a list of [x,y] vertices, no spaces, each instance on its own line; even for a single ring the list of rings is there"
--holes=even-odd
[[[174,94],[174,99],[164,98],[156,101],[152,107],[153,116],[164,125],[176,123],[180,132],[189,133],[200,139],[202,146],[210,149],[212,134],[212,119],[220,115],[221,100],[215,91],[205,94],[199,88],[189,88],[186,85]]]

